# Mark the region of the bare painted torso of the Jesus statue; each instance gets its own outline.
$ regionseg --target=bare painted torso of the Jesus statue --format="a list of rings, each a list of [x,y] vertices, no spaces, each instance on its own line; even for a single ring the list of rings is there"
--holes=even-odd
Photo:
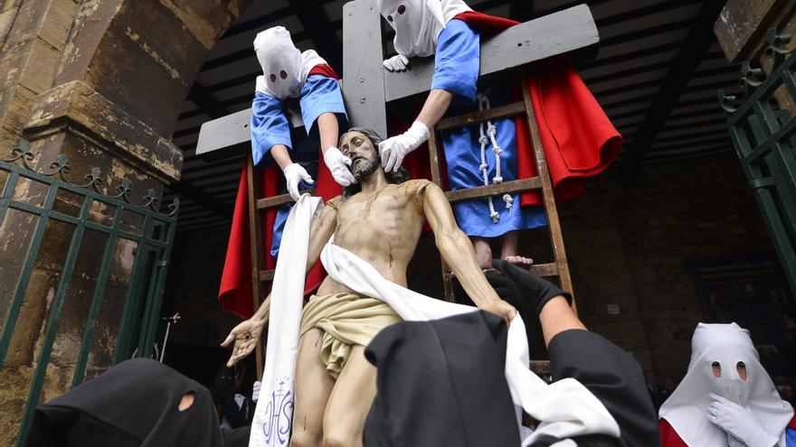
[[[352,197],[338,197],[335,245],[373,265],[384,278],[406,286],[406,267],[422,233],[422,189],[425,180],[390,184]],[[327,276],[317,293],[353,292]]]

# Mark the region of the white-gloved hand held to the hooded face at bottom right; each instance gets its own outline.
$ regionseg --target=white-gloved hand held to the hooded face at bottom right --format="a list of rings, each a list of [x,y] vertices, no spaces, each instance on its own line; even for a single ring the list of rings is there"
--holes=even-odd
[[[757,416],[750,410],[715,393],[710,394],[713,402],[707,406],[707,420],[718,425],[726,433],[743,441],[749,447],[772,447],[780,438],[768,433]]]

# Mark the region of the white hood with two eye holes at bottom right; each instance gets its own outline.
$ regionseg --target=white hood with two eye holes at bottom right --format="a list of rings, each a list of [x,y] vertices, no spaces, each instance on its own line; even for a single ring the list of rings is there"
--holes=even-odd
[[[738,376],[739,361],[746,366],[745,382]],[[714,377],[713,362],[721,365],[721,377]],[[793,408],[777,394],[771,377],[760,364],[749,331],[735,323],[696,326],[686,377],[660,407],[659,417],[666,419],[688,445],[727,445],[727,433],[706,416],[713,402],[710,393],[751,410],[763,429],[781,438],[780,446],[785,445],[785,428],[791,422]]]

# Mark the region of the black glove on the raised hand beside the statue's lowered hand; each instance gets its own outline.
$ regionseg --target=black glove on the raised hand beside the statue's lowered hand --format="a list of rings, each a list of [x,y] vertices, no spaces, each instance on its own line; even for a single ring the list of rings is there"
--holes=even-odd
[[[503,275],[487,272],[487,280],[498,295],[520,311],[542,312],[545,304],[556,296],[563,296],[572,304],[572,295],[566,293],[555,284],[542,279],[526,268],[508,261],[493,259],[492,267]]]

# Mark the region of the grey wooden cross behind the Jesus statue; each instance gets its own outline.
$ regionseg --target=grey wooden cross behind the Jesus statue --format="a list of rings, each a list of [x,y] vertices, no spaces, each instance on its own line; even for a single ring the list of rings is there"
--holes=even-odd
[[[387,136],[388,102],[426,93],[431,88],[433,58],[412,59],[411,70],[384,70],[381,15],[374,0],[355,0],[343,6],[343,96],[352,126]],[[520,23],[481,41],[479,86],[520,79],[528,65],[564,55],[569,61],[592,60],[600,36],[587,5]],[[291,126],[303,126],[291,112]],[[251,140],[251,108],[202,125],[196,154],[225,157],[240,154],[242,143]]]

